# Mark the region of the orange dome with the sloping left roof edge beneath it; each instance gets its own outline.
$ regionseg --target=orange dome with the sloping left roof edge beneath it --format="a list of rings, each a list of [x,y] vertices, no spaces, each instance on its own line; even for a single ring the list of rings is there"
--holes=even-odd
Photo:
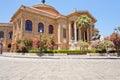
[[[22,5],[12,16],[10,22],[12,22],[12,20],[14,19],[14,17],[20,13],[20,11],[30,11],[30,12],[34,12],[37,14],[41,14],[41,15],[45,15],[51,18],[56,18],[58,17],[60,14],[59,12],[52,6],[50,5],[46,5],[46,4],[37,4],[34,6],[24,6]]]

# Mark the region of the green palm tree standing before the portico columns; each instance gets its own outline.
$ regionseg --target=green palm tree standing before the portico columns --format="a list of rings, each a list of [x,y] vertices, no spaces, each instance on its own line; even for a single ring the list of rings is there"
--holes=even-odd
[[[77,26],[79,28],[82,28],[82,27],[85,28],[85,31],[82,32],[83,37],[87,35],[87,30],[88,28],[90,28],[90,23],[91,23],[91,19],[87,15],[81,15],[80,17],[78,17]],[[86,38],[84,37],[83,40],[87,40],[87,37]]]

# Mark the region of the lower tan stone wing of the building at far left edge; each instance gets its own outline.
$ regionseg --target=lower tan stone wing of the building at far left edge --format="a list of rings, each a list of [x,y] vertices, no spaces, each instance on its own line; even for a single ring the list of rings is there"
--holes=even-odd
[[[3,50],[10,51],[13,35],[13,24],[0,23],[0,42],[3,43]],[[2,39],[2,40],[1,40]]]

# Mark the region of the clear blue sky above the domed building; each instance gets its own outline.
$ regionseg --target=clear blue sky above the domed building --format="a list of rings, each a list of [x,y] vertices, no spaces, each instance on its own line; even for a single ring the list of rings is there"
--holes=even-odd
[[[9,22],[21,5],[33,6],[41,0],[0,0],[0,22]],[[96,19],[100,34],[109,36],[115,27],[120,26],[120,0],[46,0],[46,4],[67,15],[77,10],[87,10]]]

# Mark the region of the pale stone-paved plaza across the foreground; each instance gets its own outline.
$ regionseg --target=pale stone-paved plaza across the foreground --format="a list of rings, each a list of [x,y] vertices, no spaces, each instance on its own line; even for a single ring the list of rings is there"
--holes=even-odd
[[[0,56],[0,80],[120,80],[116,56]]]

